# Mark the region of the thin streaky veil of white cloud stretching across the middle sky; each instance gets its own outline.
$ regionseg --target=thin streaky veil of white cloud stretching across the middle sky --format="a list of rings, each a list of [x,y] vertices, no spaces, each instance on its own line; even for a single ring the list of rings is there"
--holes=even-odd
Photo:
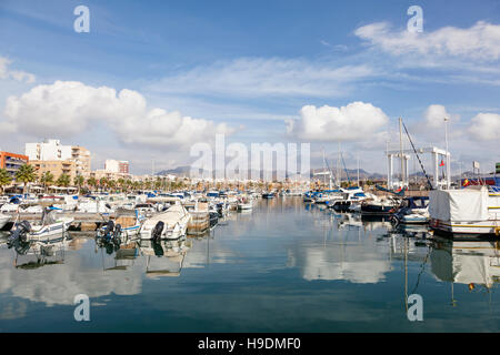
[[[221,97],[346,95],[349,83],[373,75],[369,65],[334,65],[300,59],[240,58],[200,65],[148,89],[174,94]]]

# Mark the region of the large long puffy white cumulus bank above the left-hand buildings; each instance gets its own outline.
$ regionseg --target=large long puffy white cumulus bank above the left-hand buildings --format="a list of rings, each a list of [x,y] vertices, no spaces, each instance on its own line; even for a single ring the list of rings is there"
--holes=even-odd
[[[103,123],[124,143],[150,146],[206,141],[230,133],[223,123],[183,116],[179,112],[148,109],[137,91],[93,88],[77,81],[37,85],[21,97],[7,99],[6,129],[34,136],[71,135],[92,123]]]

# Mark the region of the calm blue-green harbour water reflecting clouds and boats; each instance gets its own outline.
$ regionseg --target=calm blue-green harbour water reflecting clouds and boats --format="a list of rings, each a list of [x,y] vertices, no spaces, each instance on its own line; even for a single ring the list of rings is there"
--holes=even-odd
[[[300,197],[160,246],[71,236],[22,255],[0,239],[1,332],[500,331],[498,245],[431,242],[424,227]],[[73,318],[77,294],[90,297],[90,322]],[[422,296],[423,322],[408,321],[409,294]]]

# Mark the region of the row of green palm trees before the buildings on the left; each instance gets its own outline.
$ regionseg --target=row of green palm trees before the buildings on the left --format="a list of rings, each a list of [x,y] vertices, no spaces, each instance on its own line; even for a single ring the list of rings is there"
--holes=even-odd
[[[138,191],[138,190],[180,190],[187,186],[183,180],[169,181],[167,178],[158,176],[156,180],[147,179],[144,181],[132,181],[129,179],[108,179],[108,178],[89,178],[84,179],[82,175],[74,176],[71,182],[71,176],[68,174],[61,174],[57,180],[54,180],[54,175],[47,171],[40,176],[38,176],[34,168],[32,165],[21,165],[19,170],[16,172],[14,180],[18,183],[23,184],[23,193],[26,192],[26,187],[29,183],[38,182],[43,189],[47,189],[50,185],[56,184],[60,187],[69,187],[74,186],[78,189],[78,193],[86,189],[88,191],[119,191],[119,192],[129,192],[129,191]],[[8,173],[6,169],[0,169],[0,193],[3,193],[3,186],[10,185],[12,183],[12,178]]]

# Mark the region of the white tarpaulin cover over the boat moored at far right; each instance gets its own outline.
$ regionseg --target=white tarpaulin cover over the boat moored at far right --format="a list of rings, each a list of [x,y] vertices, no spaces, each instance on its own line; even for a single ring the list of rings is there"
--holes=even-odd
[[[470,186],[461,190],[429,192],[431,219],[441,221],[488,220],[488,187]]]

